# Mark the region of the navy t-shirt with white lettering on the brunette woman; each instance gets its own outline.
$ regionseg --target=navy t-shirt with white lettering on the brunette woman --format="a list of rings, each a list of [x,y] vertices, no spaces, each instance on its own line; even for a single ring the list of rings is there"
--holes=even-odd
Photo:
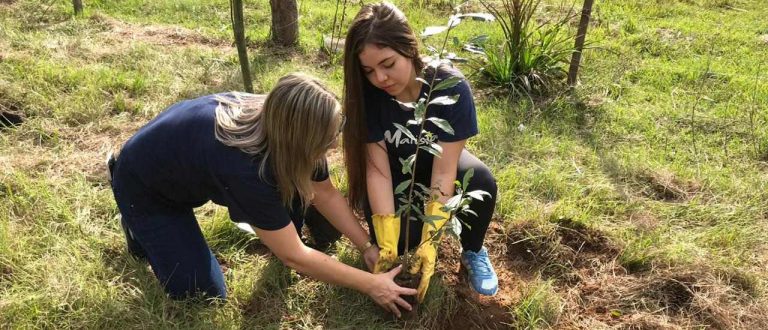
[[[459,95],[459,99],[452,105],[430,105],[427,108],[427,117],[437,117],[445,119],[454,130],[454,134],[443,131],[430,121],[424,125],[424,129],[433,134],[432,142],[456,142],[468,139],[477,135],[477,114],[475,110],[475,101],[472,98],[472,90],[469,87],[464,76],[456,69],[441,67],[437,71],[438,81],[456,76],[462,78],[456,86],[433,92],[431,98],[439,96]],[[430,81],[428,77],[426,79]],[[428,86],[423,84],[419,97],[426,98]],[[368,126],[368,143],[384,141],[387,146],[389,156],[389,166],[392,172],[393,185],[397,185],[409,177],[402,174],[402,164],[400,159],[406,159],[416,152],[416,141],[397,130],[393,123],[398,123],[407,127],[414,136],[419,136],[419,126],[406,125],[408,120],[414,119],[414,111],[400,106],[395,98],[385,91],[378,88],[371,88],[365,98],[365,115]],[[427,182],[432,173],[432,162],[434,156],[426,151],[419,152],[419,158],[416,164],[417,181],[429,184]]]

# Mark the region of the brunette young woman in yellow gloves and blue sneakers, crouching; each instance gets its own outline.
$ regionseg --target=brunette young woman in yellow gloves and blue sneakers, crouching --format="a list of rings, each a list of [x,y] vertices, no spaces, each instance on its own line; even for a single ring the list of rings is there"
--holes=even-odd
[[[496,202],[496,180],[488,167],[464,146],[467,139],[478,134],[474,100],[469,84],[462,74],[449,66],[441,66],[423,73],[425,64],[419,54],[418,40],[405,15],[391,3],[364,6],[347,32],[344,48],[344,128],[343,147],[351,205],[362,210],[369,224],[371,236],[380,248],[375,272],[387,270],[397,255],[403,254],[405,226],[410,228],[410,247],[416,262],[409,271],[421,272],[419,300],[423,300],[434,274],[437,247],[429,240],[435,227],[445,224],[449,214],[442,210],[444,203],[454,195],[454,181],[468,170],[474,170],[469,187],[484,190],[491,198],[472,202],[477,215],[462,215],[468,224],[462,229],[463,247],[461,263],[468,272],[469,283],[480,294],[494,295],[498,290],[496,272],[488,258],[483,241],[493,216]],[[424,205],[426,215],[436,215],[435,227],[418,221],[407,221],[395,215],[400,201],[394,187],[410,179],[401,171],[401,159],[417,151],[416,141],[397,130],[395,124],[411,129],[419,135],[418,127],[408,126],[414,119],[411,109],[396,101],[414,102],[426,97],[428,87],[416,78],[431,81],[460,77],[453,88],[433,93],[432,97],[459,95],[458,102],[448,106],[429,106],[428,117],[448,121],[454,133],[449,134],[431,122],[425,129],[442,147],[442,156],[433,157],[420,152],[416,181],[430,187],[436,201]],[[420,244],[423,243],[423,244]]]

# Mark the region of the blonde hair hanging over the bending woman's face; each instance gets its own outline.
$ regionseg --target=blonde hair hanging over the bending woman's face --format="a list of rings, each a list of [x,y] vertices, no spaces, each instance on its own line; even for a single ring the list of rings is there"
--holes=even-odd
[[[243,152],[261,154],[259,175],[271,165],[283,205],[298,194],[306,209],[314,195],[313,173],[341,125],[341,106],[319,80],[299,73],[280,78],[266,96],[218,97],[216,139]]]

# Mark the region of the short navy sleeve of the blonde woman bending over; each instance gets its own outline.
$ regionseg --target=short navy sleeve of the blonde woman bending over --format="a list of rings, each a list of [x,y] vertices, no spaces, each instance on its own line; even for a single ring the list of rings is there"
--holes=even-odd
[[[220,177],[222,197],[234,222],[246,222],[264,230],[281,229],[291,223],[277,187],[265,183],[258,173]]]

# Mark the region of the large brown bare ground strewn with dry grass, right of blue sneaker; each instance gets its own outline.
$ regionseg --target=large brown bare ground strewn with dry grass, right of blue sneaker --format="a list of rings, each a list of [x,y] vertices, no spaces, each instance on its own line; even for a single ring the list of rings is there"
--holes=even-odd
[[[644,213],[638,213],[634,221],[648,227],[655,223]],[[570,219],[552,224],[521,222],[504,231],[503,239],[490,244],[493,249],[506,250],[496,256],[496,269],[504,267],[518,283],[538,276],[554,281],[555,291],[565,302],[554,328],[768,326],[768,308],[759,292],[761,282],[748,274],[706,266],[630,274],[617,262],[620,244],[599,229]],[[519,294],[510,297],[505,305],[508,309],[514,307]]]

